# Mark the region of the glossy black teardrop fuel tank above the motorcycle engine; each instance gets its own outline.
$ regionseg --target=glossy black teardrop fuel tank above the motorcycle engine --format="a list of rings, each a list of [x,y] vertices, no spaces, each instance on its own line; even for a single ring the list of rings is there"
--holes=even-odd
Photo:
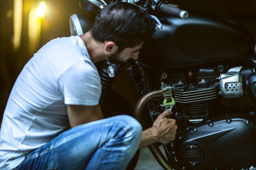
[[[144,44],[146,68],[191,67],[252,55],[255,39],[247,29],[212,13],[193,12],[186,20],[164,16],[162,30]]]

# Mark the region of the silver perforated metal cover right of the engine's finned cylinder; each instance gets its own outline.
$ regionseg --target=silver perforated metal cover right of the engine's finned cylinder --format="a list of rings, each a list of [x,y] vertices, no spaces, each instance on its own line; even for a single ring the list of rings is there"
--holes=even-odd
[[[220,93],[224,98],[239,98],[243,96],[242,66],[233,67],[225,74],[220,74]]]

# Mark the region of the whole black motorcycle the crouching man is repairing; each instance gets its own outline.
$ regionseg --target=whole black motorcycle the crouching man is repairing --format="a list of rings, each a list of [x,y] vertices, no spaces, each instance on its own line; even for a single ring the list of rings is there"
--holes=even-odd
[[[135,108],[112,91],[119,65],[101,63],[102,111],[134,111],[149,128],[165,109],[178,125],[176,140],[150,145],[164,169],[256,169],[256,43],[235,21],[206,11],[184,11],[162,0],[127,0],[151,13],[156,33],[127,68]],[[110,1],[80,0],[70,17],[72,35],[90,29]],[[115,98],[119,104],[112,99]],[[117,111],[118,107],[120,110]]]

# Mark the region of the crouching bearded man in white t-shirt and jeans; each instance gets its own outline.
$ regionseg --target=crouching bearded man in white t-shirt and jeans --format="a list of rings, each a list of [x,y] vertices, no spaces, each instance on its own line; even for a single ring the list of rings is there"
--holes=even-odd
[[[0,169],[125,169],[138,148],[171,142],[165,111],[142,132],[128,115],[103,119],[95,63],[137,60],[154,21],[137,6],[112,3],[84,35],[44,45],[18,76],[1,125]]]

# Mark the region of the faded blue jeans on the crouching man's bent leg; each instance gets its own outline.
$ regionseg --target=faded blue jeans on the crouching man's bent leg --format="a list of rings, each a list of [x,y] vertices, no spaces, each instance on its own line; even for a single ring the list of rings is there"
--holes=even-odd
[[[86,123],[33,150],[17,169],[125,169],[141,136],[142,126],[128,115]]]

